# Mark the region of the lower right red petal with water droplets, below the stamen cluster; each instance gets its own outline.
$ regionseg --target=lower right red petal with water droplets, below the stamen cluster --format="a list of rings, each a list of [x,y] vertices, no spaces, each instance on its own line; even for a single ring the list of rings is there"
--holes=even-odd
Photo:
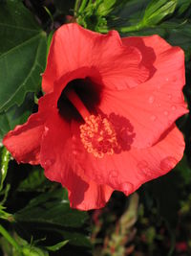
[[[180,130],[173,125],[156,145],[147,149],[131,148],[99,159],[88,153],[78,139],[74,151],[74,161],[85,175],[97,184],[107,184],[129,195],[146,181],[172,170],[183,155],[184,140]]]

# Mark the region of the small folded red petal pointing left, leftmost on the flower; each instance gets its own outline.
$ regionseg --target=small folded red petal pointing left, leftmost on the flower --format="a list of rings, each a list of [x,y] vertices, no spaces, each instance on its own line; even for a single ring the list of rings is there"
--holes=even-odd
[[[27,123],[16,126],[4,137],[3,144],[18,163],[39,164],[43,131],[43,120],[38,114],[32,114]]]

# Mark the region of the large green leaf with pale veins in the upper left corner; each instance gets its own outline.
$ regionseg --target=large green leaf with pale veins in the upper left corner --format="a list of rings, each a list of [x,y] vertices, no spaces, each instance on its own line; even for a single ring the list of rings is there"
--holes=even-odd
[[[39,90],[46,34],[21,1],[0,1],[0,111]]]

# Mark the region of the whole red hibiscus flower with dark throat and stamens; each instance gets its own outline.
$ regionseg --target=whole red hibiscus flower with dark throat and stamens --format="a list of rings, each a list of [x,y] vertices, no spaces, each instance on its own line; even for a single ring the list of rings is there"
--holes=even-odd
[[[38,112],[3,143],[66,187],[72,207],[100,208],[114,190],[128,196],[180,161],[183,85],[183,52],[159,35],[64,25],[53,35]]]

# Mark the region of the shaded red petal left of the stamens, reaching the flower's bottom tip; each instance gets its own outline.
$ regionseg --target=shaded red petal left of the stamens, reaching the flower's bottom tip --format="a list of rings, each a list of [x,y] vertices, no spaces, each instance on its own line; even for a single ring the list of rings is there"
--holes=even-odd
[[[53,111],[45,127],[40,152],[40,161],[45,168],[45,175],[68,188],[71,207],[80,210],[103,207],[113,189],[88,180],[81,169],[74,166],[75,137],[71,134],[70,124],[57,111]]]

